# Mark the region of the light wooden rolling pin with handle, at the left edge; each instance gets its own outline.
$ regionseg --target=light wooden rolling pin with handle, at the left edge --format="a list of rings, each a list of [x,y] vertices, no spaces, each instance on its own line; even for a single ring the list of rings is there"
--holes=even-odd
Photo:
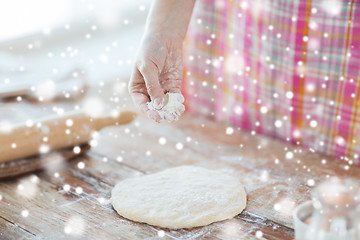
[[[134,118],[133,112],[97,118],[73,113],[13,126],[9,132],[0,133],[0,163],[87,143],[94,131],[127,124]]]

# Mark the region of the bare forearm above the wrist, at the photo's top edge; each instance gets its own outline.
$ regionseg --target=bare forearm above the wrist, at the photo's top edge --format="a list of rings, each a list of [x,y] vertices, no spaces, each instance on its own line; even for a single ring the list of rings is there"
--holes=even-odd
[[[185,38],[195,0],[153,0],[146,34],[166,33]]]

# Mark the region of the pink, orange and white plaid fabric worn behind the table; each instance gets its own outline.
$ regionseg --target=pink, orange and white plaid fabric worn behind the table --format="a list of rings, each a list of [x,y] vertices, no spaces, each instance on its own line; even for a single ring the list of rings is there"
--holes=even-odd
[[[198,0],[187,109],[360,165],[360,1]]]

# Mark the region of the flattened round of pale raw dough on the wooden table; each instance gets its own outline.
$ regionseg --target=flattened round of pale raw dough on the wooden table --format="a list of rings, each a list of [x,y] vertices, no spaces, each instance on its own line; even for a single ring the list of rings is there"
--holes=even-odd
[[[192,228],[241,213],[246,192],[239,179],[228,173],[182,166],[118,183],[111,203],[121,216],[134,221]]]

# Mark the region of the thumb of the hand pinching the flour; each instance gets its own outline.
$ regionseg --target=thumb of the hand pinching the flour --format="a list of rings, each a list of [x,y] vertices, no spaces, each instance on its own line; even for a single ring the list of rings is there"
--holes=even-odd
[[[159,81],[159,70],[154,63],[144,64],[139,68],[141,75],[144,78],[146,89],[150,96],[151,101],[160,108],[164,100],[164,90],[162,89]]]

